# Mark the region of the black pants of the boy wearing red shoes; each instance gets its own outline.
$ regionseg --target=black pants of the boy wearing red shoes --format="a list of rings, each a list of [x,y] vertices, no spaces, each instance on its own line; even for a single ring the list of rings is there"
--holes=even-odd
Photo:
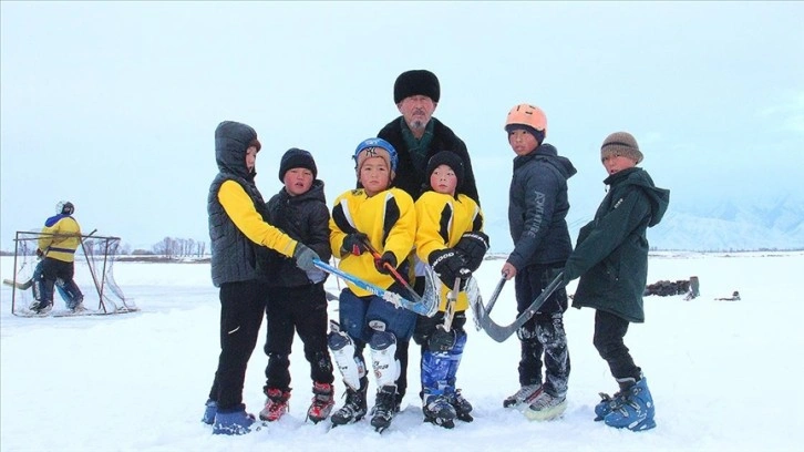
[[[293,333],[305,343],[310,378],[332,383],[332,361],[327,348],[327,294],[323,282],[299,287],[271,287],[266,304],[266,389],[290,389],[290,352]]]

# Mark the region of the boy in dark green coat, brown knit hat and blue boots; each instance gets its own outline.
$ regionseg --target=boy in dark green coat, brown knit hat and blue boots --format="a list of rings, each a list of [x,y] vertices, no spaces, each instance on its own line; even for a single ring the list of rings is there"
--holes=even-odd
[[[592,343],[619,386],[615,397],[602,394],[596,421],[632,431],[656,427],[653,398],[642,369],[633,362],[623,339],[630,322],[645,321],[642,292],[648,278],[649,227],[661,222],[670,191],[658,188],[642,162],[637,140],[627,132],[606,137],[600,160],[608,193],[595,218],[578,232],[564,280],[580,277],[573,306],[595,309]]]

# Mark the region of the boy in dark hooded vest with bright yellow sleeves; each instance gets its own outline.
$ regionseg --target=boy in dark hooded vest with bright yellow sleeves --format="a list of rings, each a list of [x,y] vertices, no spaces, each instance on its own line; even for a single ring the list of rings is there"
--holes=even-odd
[[[319,256],[264,220],[265,201],[255,184],[261,145],[249,125],[224,121],[215,129],[218,174],[209,186],[207,212],[212,242],[212,277],[220,289],[220,355],[202,421],[214,434],[244,434],[252,414],[243,403],[246,367],[266,309],[267,288],[257,278],[256,247],[292,257],[302,270],[315,269]]]

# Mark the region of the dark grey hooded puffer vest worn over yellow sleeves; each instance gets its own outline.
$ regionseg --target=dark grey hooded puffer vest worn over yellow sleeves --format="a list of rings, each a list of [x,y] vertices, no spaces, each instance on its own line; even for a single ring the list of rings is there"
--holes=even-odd
[[[226,181],[235,181],[246,191],[257,212],[265,209],[265,201],[254,183],[255,172],[246,167],[248,143],[257,132],[246,124],[225,121],[215,130],[215,162],[218,175],[209,186],[207,213],[213,253],[212,274],[215,287],[224,282],[246,281],[256,274],[255,244],[246,237],[224,210],[218,191]]]

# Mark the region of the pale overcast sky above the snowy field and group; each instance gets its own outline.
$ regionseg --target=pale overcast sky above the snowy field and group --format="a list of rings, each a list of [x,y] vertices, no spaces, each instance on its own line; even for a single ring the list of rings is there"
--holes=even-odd
[[[466,142],[491,223],[506,222],[502,127],[523,102],[579,170],[570,224],[604,196],[599,147],[617,131],[671,208],[801,193],[803,17],[803,2],[2,1],[0,248],[60,199],[134,248],[208,240],[224,120],[257,130],[266,199],[296,146],[332,201],[410,69],[441,80],[435,116]]]

